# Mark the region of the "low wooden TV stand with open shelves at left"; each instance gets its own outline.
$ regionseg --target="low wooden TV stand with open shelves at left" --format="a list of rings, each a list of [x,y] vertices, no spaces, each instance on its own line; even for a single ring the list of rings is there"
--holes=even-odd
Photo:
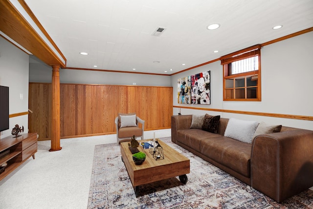
[[[20,134],[18,138],[15,136],[0,139],[0,154],[6,153],[0,157],[0,165],[7,163],[4,172],[0,173],[0,180],[10,174],[14,169],[19,167],[28,158],[37,152],[37,133]],[[7,153],[9,151],[9,153]]]

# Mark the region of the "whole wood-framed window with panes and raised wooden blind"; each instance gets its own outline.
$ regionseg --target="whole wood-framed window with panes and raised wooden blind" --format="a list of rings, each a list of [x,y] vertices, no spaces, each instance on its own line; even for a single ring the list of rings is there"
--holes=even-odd
[[[261,46],[221,57],[224,101],[261,101]]]

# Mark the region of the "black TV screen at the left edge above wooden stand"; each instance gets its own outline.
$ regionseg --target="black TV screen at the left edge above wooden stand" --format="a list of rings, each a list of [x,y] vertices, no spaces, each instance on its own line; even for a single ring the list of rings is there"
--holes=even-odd
[[[9,87],[0,86],[0,131],[9,129]]]

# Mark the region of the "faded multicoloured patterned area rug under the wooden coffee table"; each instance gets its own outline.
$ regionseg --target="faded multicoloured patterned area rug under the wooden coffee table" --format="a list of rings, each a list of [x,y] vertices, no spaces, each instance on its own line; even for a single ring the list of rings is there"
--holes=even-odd
[[[161,139],[190,159],[186,185],[171,178],[140,186],[139,196],[121,161],[120,147],[96,145],[88,209],[312,209],[308,189],[281,204],[247,186],[223,170],[171,142]],[[164,156],[164,158],[169,156]]]

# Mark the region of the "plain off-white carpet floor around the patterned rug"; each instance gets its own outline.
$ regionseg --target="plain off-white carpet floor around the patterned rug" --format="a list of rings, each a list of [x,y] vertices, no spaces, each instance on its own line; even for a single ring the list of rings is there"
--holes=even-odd
[[[171,129],[145,131],[145,139],[171,136]],[[62,150],[49,152],[38,141],[28,159],[0,181],[0,209],[86,209],[95,145],[116,143],[116,134],[61,139]]]

